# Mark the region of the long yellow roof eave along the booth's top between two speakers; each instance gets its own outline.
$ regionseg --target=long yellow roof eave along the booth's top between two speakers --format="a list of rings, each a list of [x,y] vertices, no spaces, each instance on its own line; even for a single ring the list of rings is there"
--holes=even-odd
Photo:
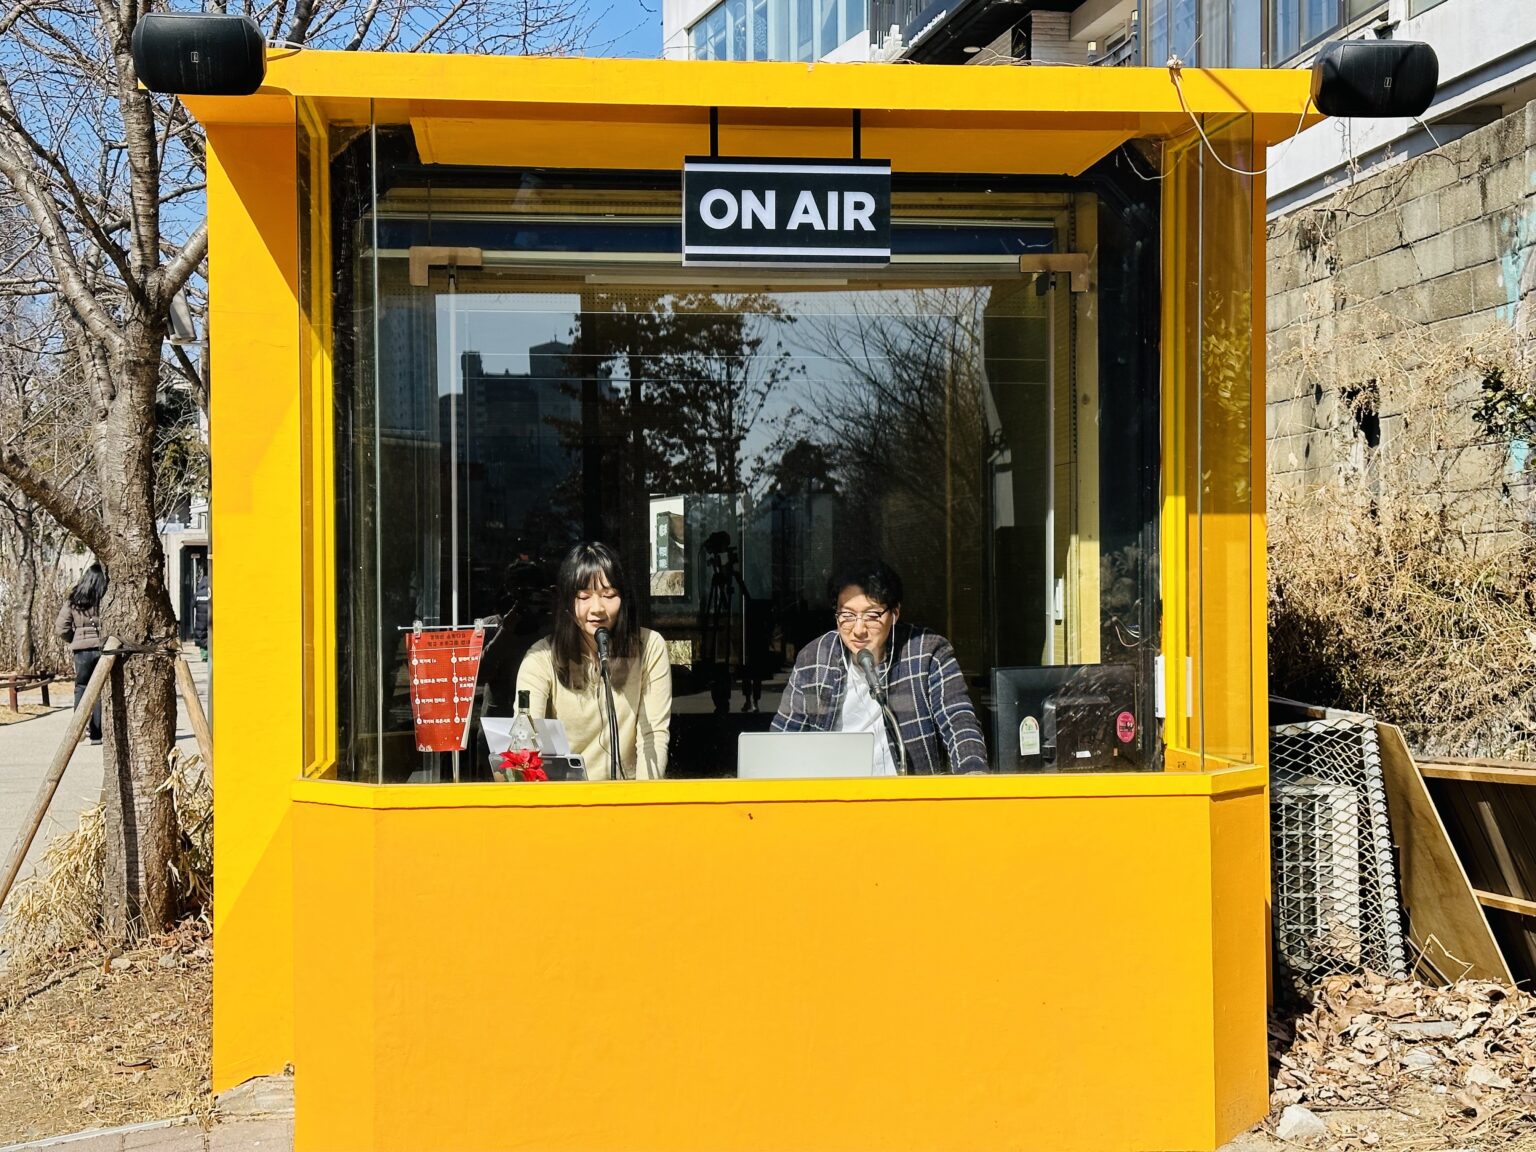
[[[915,71],[914,69],[920,69]],[[1310,72],[1293,69],[978,68],[682,60],[430,55],[270,49],[250,97],[183,97],[204,124],[293,121],[295,98],[329,118],[429,121],[528,118],[634,121],[707,109],[771,120],[851,109],[889,127],[943,117],[954,127],[1111,131],[1167,137],[1190,115],[1253,117],[1253,143],[1273,144],[1322,117],[1307,108]],[[370,112],[372,104],[372,112]],[[1303,109],[1307,109],[1303,115]],[[671,112],[668,112],[668,109]]]

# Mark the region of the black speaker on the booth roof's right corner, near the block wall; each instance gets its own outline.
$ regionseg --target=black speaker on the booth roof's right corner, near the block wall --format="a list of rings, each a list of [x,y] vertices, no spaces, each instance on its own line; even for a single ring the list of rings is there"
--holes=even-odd
[[[1330,117],[1416,117],[1435,100],[1439,58],[1415,40],[1336,40],[1312,63],[1312,103]]]

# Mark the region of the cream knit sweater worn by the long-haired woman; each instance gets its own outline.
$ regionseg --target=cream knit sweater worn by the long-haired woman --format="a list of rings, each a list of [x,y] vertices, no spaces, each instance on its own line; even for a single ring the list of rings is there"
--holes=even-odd
[[[613,710],[619,716],[619,757],[633,780],[659,780],[667,773],[667,740],[671,730],[671,664],[659,633],[641,628],[641,656],[611,660]],[[608,716],[602,705],[602,680],[593,660],[585,687],[567,688],[554,676],[554,648],[544,637],[522,657],[518,691],[528,693],[528,713],[553,716],[565,725],[571,751],[587,760],[588,780],[607,780]]]

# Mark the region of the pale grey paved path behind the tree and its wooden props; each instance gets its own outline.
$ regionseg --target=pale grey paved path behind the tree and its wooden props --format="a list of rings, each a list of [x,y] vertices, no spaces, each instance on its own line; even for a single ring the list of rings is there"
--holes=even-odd
[[[187,664],[192,668],[192,680],[197,684],[198,696],[203,697],[203,708],[207,708],[207,676],[209,665],[198,659],[197,648],[184,648],[190,653]],[[74,687],[55,684],[49,688],[49,696],[55,703],[71,703]],[[22,694],[23,702],[37,703],[40,693]],[[63,743],[65,730],[69,728],[69,708],[58,708],[46,716],[31,720],[0,725],[0,860],[5,860],[15,843],[22,822],[32,809],[37,790],[48,774],[48,765]],[[177,745],[187,753],[197,751],[197,739],[192,736],[192,725],[177,697]],[[58,782],[54,793],[54,803],[43,817],[43,826],[37,829],[37,839],[26,854],[22,872],[17,877],[20,885],[29,877],[43,857],[48,842],[61,831],[72,829],[80,813],[101,799],[101,748],[81,739],[75,748],[65,779]]]

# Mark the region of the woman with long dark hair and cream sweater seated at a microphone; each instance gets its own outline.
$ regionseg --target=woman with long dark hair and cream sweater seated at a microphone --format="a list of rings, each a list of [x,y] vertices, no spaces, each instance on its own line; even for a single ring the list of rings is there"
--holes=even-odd
[[[610,779],[599,628],[608,630],[622,774],[659,780],[667,773],[671,730],[671,662],[660,634],[639,625],[633,585],[607,544],[582,542],[565,553],[554,576],[554,631],[522,657],[518,691],[528,693],[535,717],[554,717],[565,727],[571,751],[587,762],[588,779]]]

